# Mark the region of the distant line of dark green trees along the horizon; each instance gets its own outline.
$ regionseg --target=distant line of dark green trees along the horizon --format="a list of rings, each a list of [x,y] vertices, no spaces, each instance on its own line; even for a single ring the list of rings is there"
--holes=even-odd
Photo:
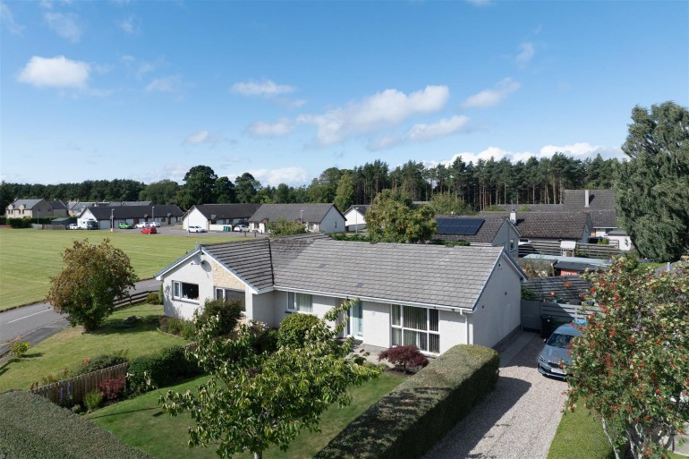
[[[505,158],[467,164],[458,157],[450,166],[433,167],[408,161],[390,170],[387,163],[377,159],[353,169],[327,168],[309,185],[299,187],[285,183],[264,186],[249,173],[236,177],[233,183],[228,177],[218,177],[208,166],[194,166],[182,184],[163,180],[147,185],[127,179],[55,185],[3,182],[0,204],[6,208],[17,198],[44,198],[64,202],[150,200],[182,208],[214,202],[338,202],[344,206],[370,204],[380,191],[398,188],[413,200],[431,200],[435,194],[448,193],[481,210],[506,203],[557,204],[566,189],[610,188],[617,162],[600,155],[581,160],[556,153],[514,164]]]

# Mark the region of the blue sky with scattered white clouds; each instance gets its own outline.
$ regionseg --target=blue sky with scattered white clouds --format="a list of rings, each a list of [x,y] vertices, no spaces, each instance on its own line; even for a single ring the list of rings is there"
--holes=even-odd
[[[310,183],[412,159],[623,157],[689,106],[689,2],[2,0],[0,178]]]

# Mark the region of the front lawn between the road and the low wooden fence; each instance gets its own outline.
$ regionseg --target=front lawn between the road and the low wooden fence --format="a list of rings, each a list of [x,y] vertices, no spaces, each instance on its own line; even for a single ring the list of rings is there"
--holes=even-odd
[[[0,392],[9,389],[29,389],[31,383],[41,382],[49,374],[75,370],[81,361],[104,353],[126,350],[132,358],[157,349],[184,344],[177,336],[157,331],[163,307],[140,304],[116,310],[106,325],[94,333],[84,333],[83,327],[70,327],[31,347],[20,361],[0,363]],[[122,319],[137,316],[140,320],[128,328],[118,327]]]

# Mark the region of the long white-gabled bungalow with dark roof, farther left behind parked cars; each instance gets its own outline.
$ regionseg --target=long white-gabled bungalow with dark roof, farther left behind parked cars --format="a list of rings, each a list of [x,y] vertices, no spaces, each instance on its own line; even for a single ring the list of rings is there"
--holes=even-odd
[[[141,222],[157,222],[160,225],[176,225],[182,221],[184,213],[175,205],[159,206],[119,206],[85,208],[77,218],[80,226],[89,220],[96,220],[99,229],[110,229],[111,221],[115,227],[121,223],[136,225]]]

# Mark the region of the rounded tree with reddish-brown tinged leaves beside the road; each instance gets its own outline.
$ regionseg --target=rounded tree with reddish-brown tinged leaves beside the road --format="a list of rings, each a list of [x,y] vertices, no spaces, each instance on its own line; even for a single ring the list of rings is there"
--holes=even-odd
[[[138,277],[129,257],[108,239],[99,245],[74,241],[63,259],[63,271],[51,278],[47,302],[66,313],[72,326],[93,331],[113,313],[115,298],[122,298]]]

